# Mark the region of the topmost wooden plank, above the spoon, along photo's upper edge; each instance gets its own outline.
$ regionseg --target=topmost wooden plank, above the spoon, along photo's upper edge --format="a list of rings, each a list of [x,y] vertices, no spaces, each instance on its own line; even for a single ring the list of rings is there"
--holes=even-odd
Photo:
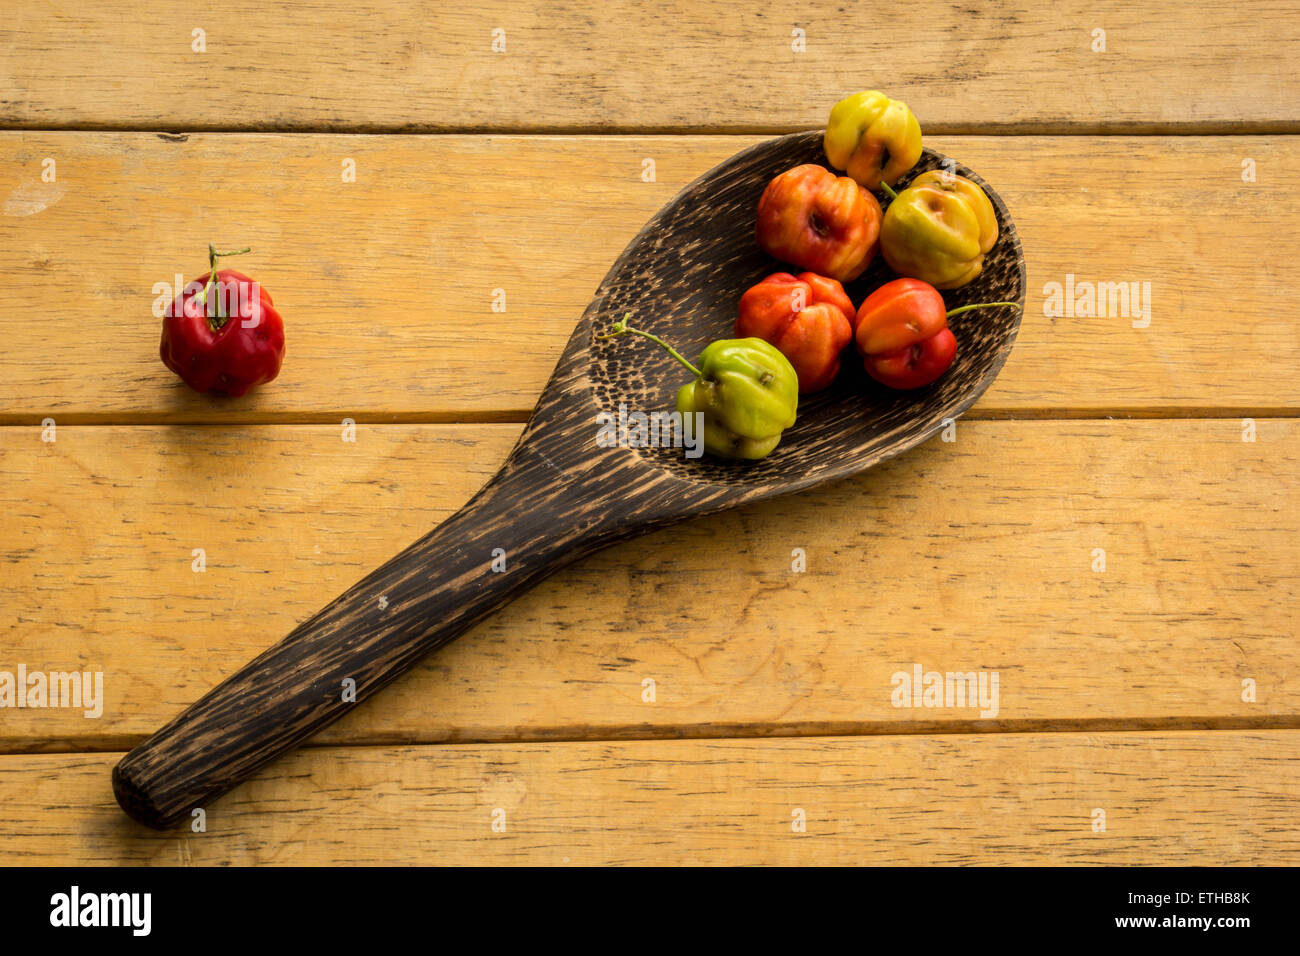
[[[1286,1],[931,1],[887,22],[836,0],[17,0],[8,13],[10,126],[788,131],[874,86],[946,131],[1300,124]]]

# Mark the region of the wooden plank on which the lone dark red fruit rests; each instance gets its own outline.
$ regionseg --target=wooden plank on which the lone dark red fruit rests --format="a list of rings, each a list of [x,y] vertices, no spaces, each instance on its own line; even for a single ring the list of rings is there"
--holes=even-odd
[[[0,135],[0,421],[521,421],[618,250],[754,142]],[[1300,138],[931,144],[1002,194],[1028,264],[1017,347],[974,415],[1296,408],[1300,291],[1277,237],[1300,219]],[[157,358],[153,285],[199,274],[209,239],[254,246],[247,268],[285,315],[280,378],[238,402],[191,394]],[[1149,326],[1046,317],[1044,286],[1067,274],[1150,282]]]

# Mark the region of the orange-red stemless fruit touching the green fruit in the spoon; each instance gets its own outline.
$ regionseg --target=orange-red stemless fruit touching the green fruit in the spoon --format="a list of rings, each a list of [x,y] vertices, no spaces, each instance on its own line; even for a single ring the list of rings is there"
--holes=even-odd
[[[833,278],[776,272],[740,297],[737,338],[762,338],[790,360],[800,392],[819,392],[840,372],[853,339],[853,302]]]

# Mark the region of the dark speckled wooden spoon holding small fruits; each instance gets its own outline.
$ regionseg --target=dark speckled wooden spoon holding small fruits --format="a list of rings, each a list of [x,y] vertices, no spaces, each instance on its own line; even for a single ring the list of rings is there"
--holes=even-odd
[[[758,198],[774,176],[801,163],[823,163],[820,133],[745,150],[660,209],[604,277],[495,477],[127,753],[113,770],[122,809],[148,826],[173,826],[577,558],[692,515],[853,475],[919,445],[970,408],[1011,350],[1019,308],[954,319],[957,360],[919,392],[876,386],[846,355],[836,384],[801,398],[798,421],[759,462],[597,444],[598,412],[618,414],[620,405],[671,410],[689,375],[650,342],[595,334],[632,312],[634,325],[688,356],[731,338],[741,293],[785,268],[754,241]],[[911,176],[941,164],[944,157],[926,150]],[[980,277],[946,294],[949,307],[1023,304],[1024,261],[1006,207],[971,170],[949,168],[984,187],[1001,230]],[[861,302],[889,278],[878,258],[849,294]],[[494,571],[502,553],[504,570]]]

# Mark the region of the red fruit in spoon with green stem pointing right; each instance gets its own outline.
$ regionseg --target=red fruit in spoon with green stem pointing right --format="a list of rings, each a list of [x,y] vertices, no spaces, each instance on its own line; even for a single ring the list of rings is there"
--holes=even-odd
[[[985,302],[949,310],[935,286],[919,278],[885,282],[858,307],[854,338],[867,375],[892,389],[919,389],[939,378],[957,356],[948,320],[972,308],[1015,306]]]

